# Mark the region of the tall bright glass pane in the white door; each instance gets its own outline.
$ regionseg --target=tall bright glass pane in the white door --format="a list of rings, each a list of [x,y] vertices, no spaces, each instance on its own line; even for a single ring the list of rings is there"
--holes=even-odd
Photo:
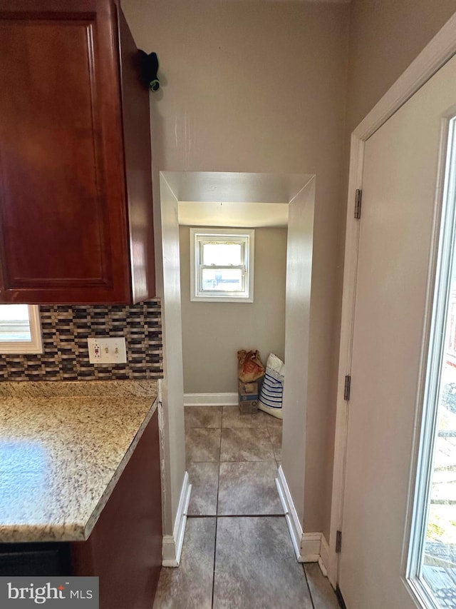
[[[423,519],[418,578],[432,607],[456,608],[456,256],[455,119],[450,121],[437,264],[433,334],[428,363],[431,391],[422,438]],[[424,443],[423,443],[424,441]],[[423,467],[423,465],[422,465]],[[425,500],[427,498],[427,500]],[[428,604],[428,603],[426,603]]]

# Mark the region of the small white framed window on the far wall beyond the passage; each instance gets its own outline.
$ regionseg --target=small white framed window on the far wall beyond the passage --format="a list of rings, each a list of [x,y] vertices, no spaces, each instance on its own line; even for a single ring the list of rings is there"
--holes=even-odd
[[[190,228],[190,300],[254,301],[253,229]]]

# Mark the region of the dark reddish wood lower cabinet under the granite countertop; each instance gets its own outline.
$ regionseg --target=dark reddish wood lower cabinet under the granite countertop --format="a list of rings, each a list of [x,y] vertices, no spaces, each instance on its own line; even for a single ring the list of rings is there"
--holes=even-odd
[[[155,411],[86,541],[1,543],[0,575],[100,578],[100,609],[150,609],[162,554]]]

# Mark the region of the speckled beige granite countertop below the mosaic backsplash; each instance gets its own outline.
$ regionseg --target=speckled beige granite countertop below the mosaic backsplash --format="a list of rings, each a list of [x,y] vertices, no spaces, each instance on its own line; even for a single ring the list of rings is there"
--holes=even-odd
[[[155,381],[0,383],[0,543],[87,539],[156,397]]]

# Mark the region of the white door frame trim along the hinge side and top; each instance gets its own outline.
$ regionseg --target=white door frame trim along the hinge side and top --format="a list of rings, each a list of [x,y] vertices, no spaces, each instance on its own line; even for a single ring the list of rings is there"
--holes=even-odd
[[[356,271],[358,266],[359,222],[353,218],[355,193],[362,188],[364,145],[400,106],[410,99],[448,59],[456,53],[456,14],[442,27],[418,57],[378,101],[351,134],[350,170],[348,177],[348,207],[346,223],[345,262],[341,341],[338,363],[338,392],[336,403],[336,433],[334,439],[333,490],[331,498],[331,527],[329,533],[328,578],[336,588],[338,582],[338,554],[336,535],[341,530],[343,490],[345,482],[346,443],[348,431],[348,403],[343,399],[345,377],[351,373]]]

